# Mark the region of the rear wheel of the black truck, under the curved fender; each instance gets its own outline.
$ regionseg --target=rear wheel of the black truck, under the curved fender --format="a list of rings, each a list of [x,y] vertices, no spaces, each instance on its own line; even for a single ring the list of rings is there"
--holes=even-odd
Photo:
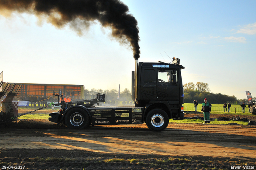
[[[65,124],[71,129],[83,129],[89,126],[89,116],[81,108],[72,108],[65,114]]]

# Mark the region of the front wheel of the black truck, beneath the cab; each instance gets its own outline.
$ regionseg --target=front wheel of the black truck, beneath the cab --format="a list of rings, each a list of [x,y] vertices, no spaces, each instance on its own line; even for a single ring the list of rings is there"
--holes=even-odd
[[[169,117],[162,109],[150,110],[146,116],[146,125],[150,130],[162,131],[166,129],[169,124]]]

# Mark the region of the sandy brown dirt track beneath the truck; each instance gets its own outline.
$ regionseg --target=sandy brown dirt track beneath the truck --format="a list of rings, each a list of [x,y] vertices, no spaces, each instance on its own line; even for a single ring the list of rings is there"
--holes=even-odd
[[[255,162],[256,126],[171,123],[163,132],[152,132],[146,124],[84,130],[48,120],[0,125],[0,168],[256,169]]]

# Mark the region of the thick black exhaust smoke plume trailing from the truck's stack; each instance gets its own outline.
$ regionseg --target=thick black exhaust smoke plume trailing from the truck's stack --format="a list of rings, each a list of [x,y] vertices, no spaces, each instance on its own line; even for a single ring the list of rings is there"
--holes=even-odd
[[[135,60],[140,57],[138,22],[119,0],[0,0],[0,14],[30,13],[57,28],[67,24],[82,35],[93,21],[112,29],[120,44],[129,44]]]

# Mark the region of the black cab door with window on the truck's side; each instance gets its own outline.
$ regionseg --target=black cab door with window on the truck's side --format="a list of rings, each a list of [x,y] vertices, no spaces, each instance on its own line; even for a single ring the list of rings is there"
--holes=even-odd
[[[179,100],[179,82],[176,69],[158,69],[156,100]]]

